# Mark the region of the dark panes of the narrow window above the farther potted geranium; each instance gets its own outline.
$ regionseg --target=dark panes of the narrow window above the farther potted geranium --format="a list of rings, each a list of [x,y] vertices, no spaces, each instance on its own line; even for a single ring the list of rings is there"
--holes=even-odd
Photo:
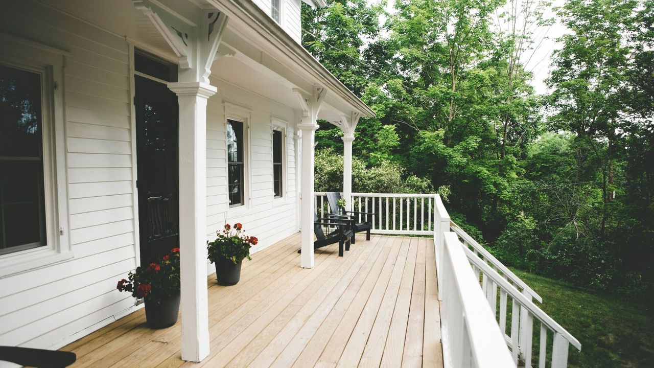
[[[228,192],[230,207],[245,204],[243,122],[227,120]]]

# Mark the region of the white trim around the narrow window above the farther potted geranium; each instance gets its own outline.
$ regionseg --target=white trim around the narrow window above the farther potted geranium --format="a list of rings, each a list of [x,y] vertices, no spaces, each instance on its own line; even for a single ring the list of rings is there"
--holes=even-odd
[[[225,202],[227,204],[228,217],[245,215],[249,212],[252,203],[252,175],[250,162],[250,122],[252,121],[252,110],[224,101],[225,109],[224,127],[225,127],[225,150],[227,150],[227,120],[235,120],[243,123],[243,204],[237,206],[230,205],[229,198],[229,158],[225,151]]]

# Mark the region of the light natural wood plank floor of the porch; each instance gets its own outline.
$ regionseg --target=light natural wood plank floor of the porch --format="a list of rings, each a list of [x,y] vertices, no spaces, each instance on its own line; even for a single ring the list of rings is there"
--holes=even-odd
[[[181,360],[181,322],[152,330],[141,309],[62,350],[72,367],[442,367],[433,240],[357,236],[300,268],[296,234],[245,261],[241,282],[209,277],[211,354]]]

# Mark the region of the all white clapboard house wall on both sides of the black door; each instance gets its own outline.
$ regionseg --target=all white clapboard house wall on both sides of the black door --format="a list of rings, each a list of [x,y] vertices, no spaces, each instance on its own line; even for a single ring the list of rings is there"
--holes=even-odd
[[[31,1],[3,2],[0,31],[71,52],[65,66],[65,170],[75,257],[0,278],[0,345],[57,348],[135,310],[133,298],[115,289],[137,265],[138,251],[129,45]],[[243,223],[260,239],[255,250],[262,249],[297,231],[294,113],[238,86],[211,83],[219,92],[207,114],[207,239],[227,219]],[[228,206],[224,101],[251,116],[250,198],[240,212]],[[273,116],[289,122],[281,200],[273,200]]]

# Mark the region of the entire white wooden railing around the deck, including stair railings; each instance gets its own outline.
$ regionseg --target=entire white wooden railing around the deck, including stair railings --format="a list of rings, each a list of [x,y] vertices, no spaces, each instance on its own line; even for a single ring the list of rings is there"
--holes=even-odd
[[[450,221],[438,194],[353,193],[346,200],[354,211],[375,213],[373,233],[434,236],[445,367],[532,367],[538,356],[539,368],[561,368],[569,344],[581,350],[534,304],[542,302],[536,291]],[[316,193],[315,208],[319,217],[329,211],[325,193]]]

